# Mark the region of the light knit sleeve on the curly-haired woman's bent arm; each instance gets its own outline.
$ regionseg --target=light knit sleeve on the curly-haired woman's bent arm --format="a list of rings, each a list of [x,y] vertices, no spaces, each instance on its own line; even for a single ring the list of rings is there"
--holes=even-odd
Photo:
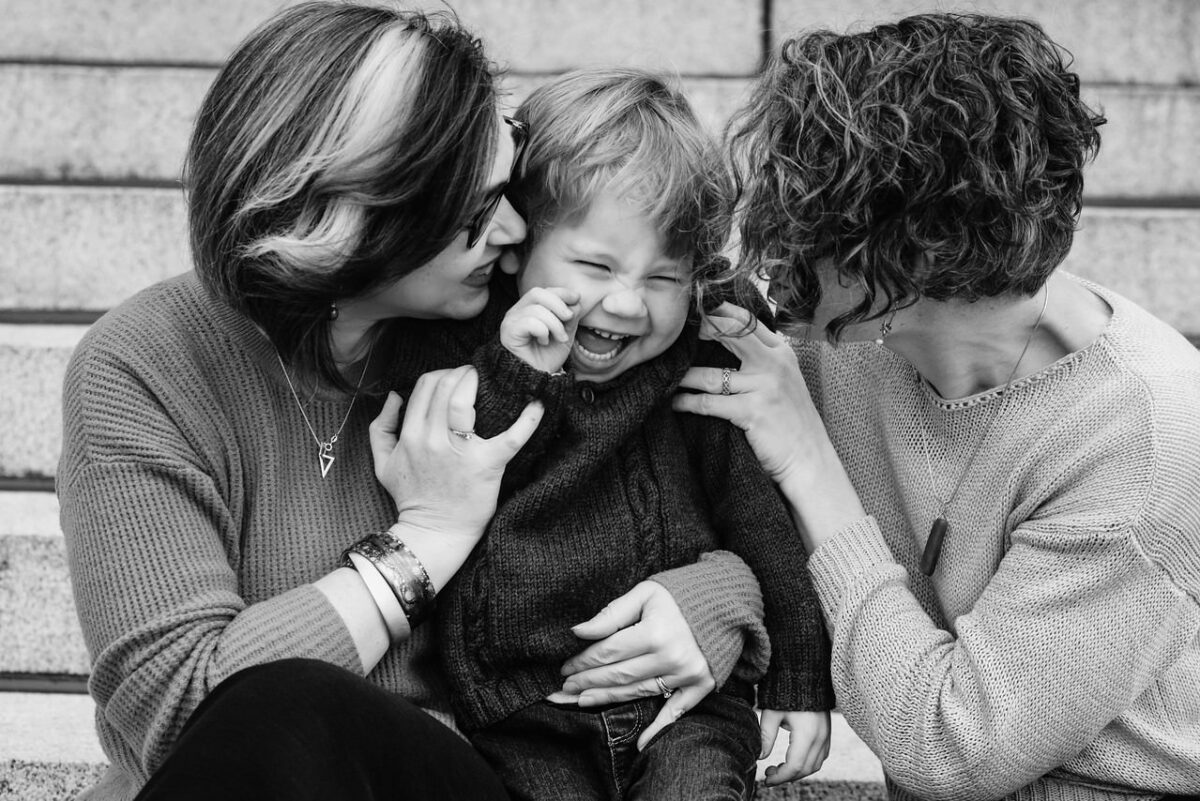
[[[1194,537],[1168,529],[1098,528],[1096,510],[1030,520],[950,632],[874,518],[853,523],[810,561],[847,722],[922,797],[1001,797],[1062,765],[1200,633],[1200,588],[1147,558]]]

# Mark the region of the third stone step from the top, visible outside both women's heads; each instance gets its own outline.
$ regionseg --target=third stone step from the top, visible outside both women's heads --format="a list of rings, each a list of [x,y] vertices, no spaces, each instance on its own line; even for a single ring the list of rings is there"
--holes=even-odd
[[[0,311],[102,311],[191,267],[169,188],[0,186]],[[1086,206],[1066,264],[1193,333],[1196,242],[1200,209]]]

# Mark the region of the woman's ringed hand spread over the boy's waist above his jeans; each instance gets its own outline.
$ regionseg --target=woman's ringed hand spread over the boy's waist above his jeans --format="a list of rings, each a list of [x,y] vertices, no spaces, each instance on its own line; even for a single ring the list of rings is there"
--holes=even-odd
[[[658,679],[672,691],[637,739],[638,748],[716,686],[674,598],[655,582],[642,582],[571,631],[599,642],[563,664],[563,689],[547,700],[580,706],[630,701],[662,694]]]

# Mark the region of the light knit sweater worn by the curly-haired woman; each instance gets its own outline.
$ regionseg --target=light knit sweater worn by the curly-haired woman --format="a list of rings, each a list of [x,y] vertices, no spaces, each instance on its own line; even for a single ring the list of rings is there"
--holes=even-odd
[[[810,571],[893,799],[1200,793],[1200,356],[1087,285],[1104,333],[990,428],[995,390],[943,401],[883,348],[794,343],[871,513]],[[936,499],[985,434],[925,577]]]

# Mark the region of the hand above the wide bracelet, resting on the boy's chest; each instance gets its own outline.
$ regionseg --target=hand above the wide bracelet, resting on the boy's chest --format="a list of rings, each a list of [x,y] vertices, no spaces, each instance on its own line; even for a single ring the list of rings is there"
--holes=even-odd
[[[462,566],[496,513],[500,477],[541,421],[539,402],[491,439],[474,434],[473,367],[426,373],[408,398],[389,393],[371,423],[376,477],[396,504],[403,540],[437,589]]]

